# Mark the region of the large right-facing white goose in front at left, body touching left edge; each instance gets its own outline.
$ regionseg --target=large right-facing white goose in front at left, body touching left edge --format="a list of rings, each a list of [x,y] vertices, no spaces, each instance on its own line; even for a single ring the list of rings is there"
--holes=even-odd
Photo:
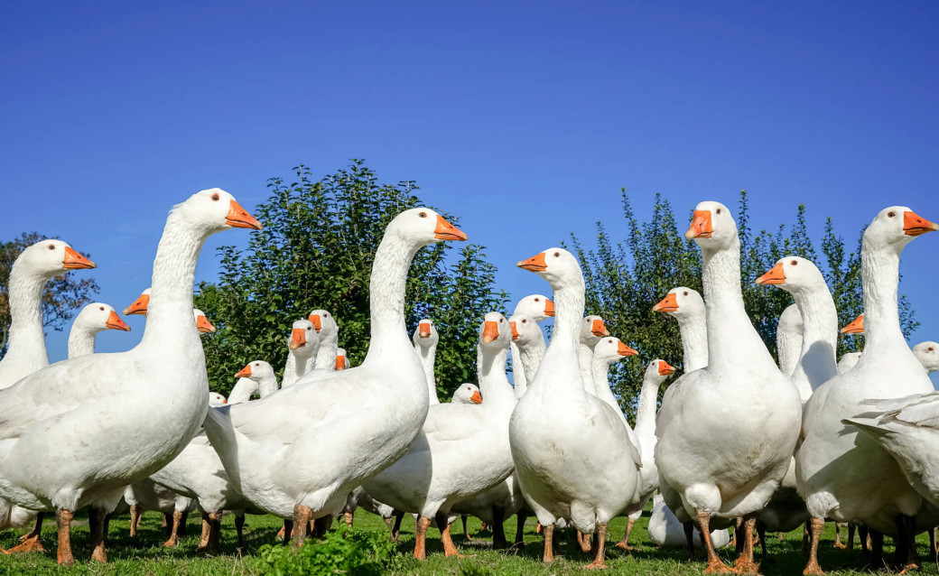
[[[0,497],[55,510],[60,564],[74,564],[71,519],[89,505],[92,558],[106,562],[104,515],[124,487],[174,459],[202,423],[208,378],[193,330],[192,279],[208,236],[232,227],[261,225],[223,190],[177,205],[157,249],[141,343],[64,360],[0,391]],[[167,365],[173,378],[165,378]]]

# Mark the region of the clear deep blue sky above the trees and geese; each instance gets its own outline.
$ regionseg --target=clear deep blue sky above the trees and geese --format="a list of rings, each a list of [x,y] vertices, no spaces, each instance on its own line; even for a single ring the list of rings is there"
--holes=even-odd
[[[926,2],[5,2],[0,236],[61,236],[123,308],[174,203],[220,186],[250,210],[355,157],[458,214],[516,297],[548,289],[516,260],[619,233],[620,186],[680,214],[746,188],[755,227],[805,202],[853,243],[891,204],[939,220],[937,26]],[[939,340],[937,248],[903,257],[914,342]]]

